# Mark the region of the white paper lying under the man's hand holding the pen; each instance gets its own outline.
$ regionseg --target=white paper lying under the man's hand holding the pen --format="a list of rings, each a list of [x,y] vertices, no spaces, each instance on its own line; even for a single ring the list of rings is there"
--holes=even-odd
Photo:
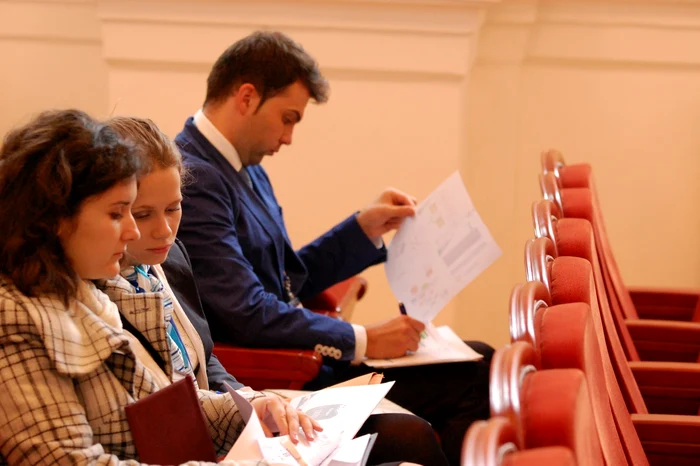
[[[425,327],[418,351],[396,359],[367,359],[365,364],[378,369],[404,366],[424,366],[447,362],[476,361],[483,356],[459,338],[450,327]]]

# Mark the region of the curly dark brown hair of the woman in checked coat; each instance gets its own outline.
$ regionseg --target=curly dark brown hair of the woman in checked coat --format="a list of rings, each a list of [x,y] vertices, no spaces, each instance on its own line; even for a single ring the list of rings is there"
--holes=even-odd
[[[0,146],[0,273],[27,296],[75,298],[80,277],[58,228],[82,203],[136,175],[140,158],[80,110],[41,113]]]

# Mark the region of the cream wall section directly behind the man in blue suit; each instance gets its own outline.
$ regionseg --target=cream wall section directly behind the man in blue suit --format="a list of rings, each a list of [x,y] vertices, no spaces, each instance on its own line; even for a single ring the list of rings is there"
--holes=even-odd
[[[418,198],[459,169],[463,100],[483,5],[396,2],[104,2],[109,101],[175,135],[204,96],[211,63],[256,28],[289,33],[330,80],[294,144],[265,161],[296,246],[372,201],[386,186]],[[421,59],[417,60],[416,57]],[[398,314],[383,267],[354,321]],[[440,315],[454,321],[456,303]]]

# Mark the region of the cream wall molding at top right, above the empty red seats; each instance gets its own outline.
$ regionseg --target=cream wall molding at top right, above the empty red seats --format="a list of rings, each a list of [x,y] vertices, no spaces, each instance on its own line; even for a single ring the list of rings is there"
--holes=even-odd
[[[510,1],[489,11],[477,61],[695,68],[689,43],[700,43],[700,1]]]

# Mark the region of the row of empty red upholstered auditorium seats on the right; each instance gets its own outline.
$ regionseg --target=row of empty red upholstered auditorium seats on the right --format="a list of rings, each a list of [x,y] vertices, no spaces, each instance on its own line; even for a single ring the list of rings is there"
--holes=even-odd
[[[463,465],[700,464],[700,295],[625,287],[591,167],[549,151],[542,169],[512,343]]]

